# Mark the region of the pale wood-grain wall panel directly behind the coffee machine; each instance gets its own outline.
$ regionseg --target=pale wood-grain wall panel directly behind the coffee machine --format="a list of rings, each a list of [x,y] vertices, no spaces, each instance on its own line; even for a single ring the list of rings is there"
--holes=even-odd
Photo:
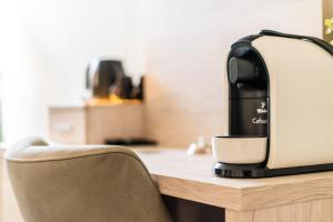
[[[224,56],[261,29],[321,37],[321,0],[145,0],[149,133],[186,147],[225,130]]]

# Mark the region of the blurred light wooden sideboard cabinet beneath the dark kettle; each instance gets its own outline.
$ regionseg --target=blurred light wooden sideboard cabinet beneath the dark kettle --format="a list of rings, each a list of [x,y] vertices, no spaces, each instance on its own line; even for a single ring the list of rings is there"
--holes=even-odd
[[[144,138],[143,104],[51,105],[49,137],[54,142],[104,144],[105,139]]]

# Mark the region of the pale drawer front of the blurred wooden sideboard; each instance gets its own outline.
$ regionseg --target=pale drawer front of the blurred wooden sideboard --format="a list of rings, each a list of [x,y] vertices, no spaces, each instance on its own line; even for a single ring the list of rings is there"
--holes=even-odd
[[[49,134],[53,141],[85,143],[85,112],[83,108],[50,108]]]

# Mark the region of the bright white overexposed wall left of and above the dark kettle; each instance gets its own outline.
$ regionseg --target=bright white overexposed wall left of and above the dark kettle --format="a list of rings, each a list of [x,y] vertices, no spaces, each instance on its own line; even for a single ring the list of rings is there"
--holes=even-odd
[[[0,1],[7,141],[44,137],[47,104],[80,99],[90,59],[129,57],[128,71],[142,72],[140,34],[130,42],[138,32],[133,7],[132,0]]]

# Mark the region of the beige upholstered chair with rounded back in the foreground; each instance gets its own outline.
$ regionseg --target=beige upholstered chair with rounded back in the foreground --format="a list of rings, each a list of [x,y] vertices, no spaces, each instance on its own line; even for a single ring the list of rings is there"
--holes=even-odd
[[[172,221],[147,168],[129,149],[30,139],[6,159],[27,222]]]

